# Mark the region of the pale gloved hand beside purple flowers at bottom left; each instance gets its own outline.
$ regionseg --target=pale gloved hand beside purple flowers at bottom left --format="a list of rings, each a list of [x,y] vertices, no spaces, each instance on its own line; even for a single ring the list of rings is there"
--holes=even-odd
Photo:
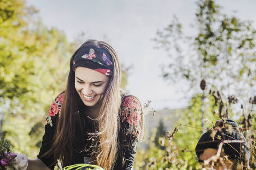
[[[17,157],[4,167],[6,170],[26,170],[28,167],[28,157],[25,154],[17,154]]]

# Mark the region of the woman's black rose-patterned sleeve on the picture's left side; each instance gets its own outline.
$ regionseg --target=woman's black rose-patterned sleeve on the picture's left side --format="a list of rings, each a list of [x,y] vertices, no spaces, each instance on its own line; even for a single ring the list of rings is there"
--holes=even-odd
[[[62,93],[53,101],[49,112],[47,114],[45,120],[45,133],[43,136],[42,146],[40,148],[39,154],[37,155],[38,159],[41,159],[42,162],[49,167],[50,169],[54,169],[55,162],[54,162],[54,154],[49,156],[43,156],[45,152],[47,152],[53,143],[53,135],[55,133],[55,129],[57,126],[57,118],[59,117],[59,113],[61,110],[61,104],[63,103],[64,94]]]

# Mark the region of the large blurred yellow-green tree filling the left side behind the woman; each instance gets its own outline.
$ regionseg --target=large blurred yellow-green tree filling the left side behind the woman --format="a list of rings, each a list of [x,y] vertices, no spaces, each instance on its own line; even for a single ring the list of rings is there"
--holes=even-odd
[[[0,1],[2,137],[10,140],[12,151],[29,158],[38,154],[44,119],[53,99],[65,90],[69,60],[77,45],[58,29],[45,27],[35,17],[37,12],[22,0]]]

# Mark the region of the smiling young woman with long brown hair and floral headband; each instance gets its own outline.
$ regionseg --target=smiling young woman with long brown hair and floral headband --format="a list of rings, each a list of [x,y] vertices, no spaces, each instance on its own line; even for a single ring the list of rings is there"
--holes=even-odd
[[[54,169],[89,163],[105,169],[132,169],[142,137],[137,98],[119,89],[121,67],[112,47],[87,40],[70,60],[66,90],[53,101],[37,159],[27,169]]]

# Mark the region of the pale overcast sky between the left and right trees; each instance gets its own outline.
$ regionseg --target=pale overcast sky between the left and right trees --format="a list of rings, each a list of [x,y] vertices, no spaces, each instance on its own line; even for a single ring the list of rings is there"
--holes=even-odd
[[[84,31],[88,39],[105,39],[116,50],[130,70],[127,90],[137,96],[141,103],[152,100],[154,109],[180,108],[187,100],[177,89],[181,84],[170,84],[161,77],[160,65],[166,59],[164,50],[155,49],[152,38],[156,31],[166,27],[172,16],[178,16],[183,31],[188,35],[195,30],[189,26],[195,20],[194,0],[27,0],[39,10],[39,17],[47,27],[56,27],[72,41]],[[243,20],[256,20],[254,0],[216,1],[223,6],[222,12]],[[70,56],[71,57],[71,56]],[[198,82],[199,83],[199,82]]]

